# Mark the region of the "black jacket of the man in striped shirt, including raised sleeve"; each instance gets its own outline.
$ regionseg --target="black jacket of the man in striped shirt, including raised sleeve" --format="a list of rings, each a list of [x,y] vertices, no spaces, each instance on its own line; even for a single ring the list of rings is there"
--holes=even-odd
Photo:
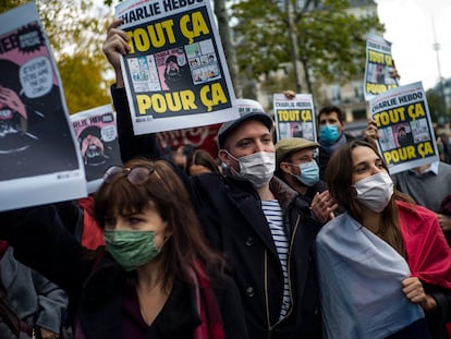
[[[149,149],[145,145],[153,145],[155,150],[155,135],[134,137],[131,122],[126,121],[130,120],[130,111],[125,92],[113,88],[112,93],[122,160],[148,155]],[[150,158],[158,157],[158,152],[150,155]],[[243,301],[249,338],[320,338],[314,258],[315,238],[320,225],[310,216],[308,204],[282,181],[272,179],[270,190],[284,213],[290,241],[292,308],[279,322],[283,273],[257,192],[249,182],[232,177],[205,173],[186,178],[180,173],[210,244],[226,255],[231,267]]]

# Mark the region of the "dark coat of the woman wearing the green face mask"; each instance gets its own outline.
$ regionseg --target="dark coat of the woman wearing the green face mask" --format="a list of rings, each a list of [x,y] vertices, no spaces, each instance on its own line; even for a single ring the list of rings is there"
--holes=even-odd
[[[17,259],[68,292],[70,302],[77,305],[77,323],[86,339],[126,338],[122,334],[125,271],[108,254],[98,261],[92,252],[86,252],[59,225],[51,206],[0,214],[0,238],[14,246]],[[227,278],[214,288],[226,338],[247,338],[234,282]],[[174,283],[146,338],[190,338],[188,334],[200,324],[193,293],[191,286]]]

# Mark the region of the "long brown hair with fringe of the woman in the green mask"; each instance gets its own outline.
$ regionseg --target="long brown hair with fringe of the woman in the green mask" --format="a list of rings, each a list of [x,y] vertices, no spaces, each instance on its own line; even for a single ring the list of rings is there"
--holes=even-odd
[[[150,168],[147,180],[133,184],[126,179],[129,172],[123,171],[109,183],[103,183],[95,196],[97,222],[105,228],[105,218],[115,211],[126,215],[154,206],[173,233],[160,253],[163,283],[174,278],[191,282],[188,267],[193,267],[196,261],[204,263],[210,274],[220,277],[224,259],[208,246],[186,187],[171,166],[166,160],[151,162],[145,159],[125,164],[125,168],[134,167]]]

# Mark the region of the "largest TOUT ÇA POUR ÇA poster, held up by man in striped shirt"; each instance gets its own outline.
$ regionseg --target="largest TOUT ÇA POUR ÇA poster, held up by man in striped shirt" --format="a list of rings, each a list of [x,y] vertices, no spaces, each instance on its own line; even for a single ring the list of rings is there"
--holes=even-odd
[[[129,0],[115,16],[130,37],[121,64],[136,135],[239,117],[209,0]]]

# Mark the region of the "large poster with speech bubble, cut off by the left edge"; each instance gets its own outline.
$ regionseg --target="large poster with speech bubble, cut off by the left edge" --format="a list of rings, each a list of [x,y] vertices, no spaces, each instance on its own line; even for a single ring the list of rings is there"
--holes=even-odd
[[[0,15],[0,210],[86,194],[61,80],[31,2]]]

